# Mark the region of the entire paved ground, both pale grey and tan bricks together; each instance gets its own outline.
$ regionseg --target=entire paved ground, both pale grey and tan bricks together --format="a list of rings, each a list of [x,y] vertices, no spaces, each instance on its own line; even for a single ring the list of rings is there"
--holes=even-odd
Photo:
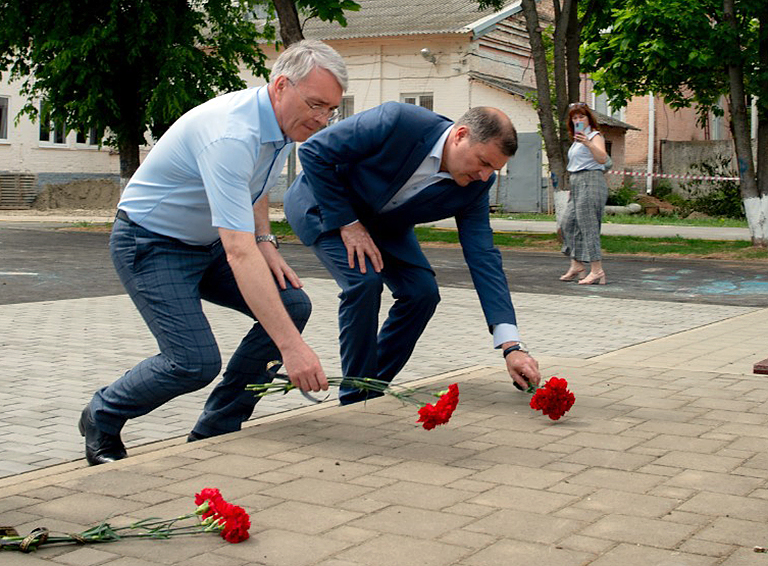
[[[306,331],[338,372],[336,293],[307,279]],[[251,538],[213,534],[3,552],[2,566],[766,565],[768,309],[515,294],[545,376],[573,409],[528,407],[490,348],[473,291],[441,289],[399,378],[459,383],[432,431],[392,398],[340,407],[291,393],[242,431],[184,436],[205,391],[130,422],[130,457],[88,467],[76,430],[93,391],[153,350],[124,295],[0,306],[0,525],[79,532],[192,510],[218,487]],[[386,305],[385,305],[386,306]],[[224,356],[248,322],[209,308]]]

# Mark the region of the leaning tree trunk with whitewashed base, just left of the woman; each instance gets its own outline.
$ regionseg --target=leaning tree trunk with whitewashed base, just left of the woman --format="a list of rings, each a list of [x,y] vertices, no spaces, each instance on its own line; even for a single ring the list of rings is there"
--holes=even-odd
[[[525,15],[525,25],[528,29],[528,40],[531,44],[531,55],[533,57],[533,69],[536,75],[536,94],[538,98],[536,112],[539,115],[541,133],[544,137],[544,148],[547,152],[547,159],[549,159],[549,170],[554,189],[555,214],[559,222],[562,213],[565,211],[568,193],[565,191],[565,158],[552,112],[551,89],[547,74],[547,56],[541,37],[539,15],[536,12],[536,0],[522,0],[521,7]]]

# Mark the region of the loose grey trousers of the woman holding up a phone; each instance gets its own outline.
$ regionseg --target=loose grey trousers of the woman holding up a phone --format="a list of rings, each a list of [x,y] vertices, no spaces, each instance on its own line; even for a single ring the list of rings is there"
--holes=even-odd
[[[600,225],[608,200],[602,171],[571,173],[571,196],[563,214],[562,252],[581,262],[602,260]]]

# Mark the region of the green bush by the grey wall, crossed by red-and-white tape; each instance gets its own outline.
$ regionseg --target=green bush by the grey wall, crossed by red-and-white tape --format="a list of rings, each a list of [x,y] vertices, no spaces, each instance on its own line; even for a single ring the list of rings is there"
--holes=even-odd
[[[702,175],[713,177],[738,177],[731,168],[731,158],[719,155],[714,159],[695,163],[691,169]],[[712,190],[705,190],[702,185],[711,185]],[[708,216],[726,218],[744,218],[744,203],[738,181],[690,181],[683,187],[691,195],[689,204],[692,210]]]

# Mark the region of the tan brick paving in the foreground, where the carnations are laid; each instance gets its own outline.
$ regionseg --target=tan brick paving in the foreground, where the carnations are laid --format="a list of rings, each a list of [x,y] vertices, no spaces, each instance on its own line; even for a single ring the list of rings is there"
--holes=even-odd
[[[201,534],[3,553],[0,562],[766,563],[753,550],[768,539],[765,378],[618,356],[544,365],[567,375],[576,394],[559,421],[531,410],[500,368],[476,366],[420,380],[434,389],[460,383],[456,413],[433,431],[392,398],[326,403],[194,444],[138,447],[113,464],[0,479],[2,522],[23,534],[38,526],[78,532],[104,517],[115,526],[175,517],[203,487],[221,489],[252,522],[240,544]]]

